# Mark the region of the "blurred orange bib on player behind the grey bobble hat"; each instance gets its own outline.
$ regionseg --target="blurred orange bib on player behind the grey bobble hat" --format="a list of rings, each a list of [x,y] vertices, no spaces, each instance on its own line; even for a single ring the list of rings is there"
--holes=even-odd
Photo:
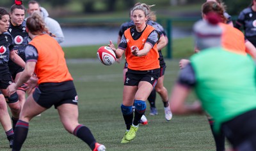
[[[222,47],[230,52],[246,55],[243,32],[227,24],[220,23],[219,25],[223,30],[221,35]]]

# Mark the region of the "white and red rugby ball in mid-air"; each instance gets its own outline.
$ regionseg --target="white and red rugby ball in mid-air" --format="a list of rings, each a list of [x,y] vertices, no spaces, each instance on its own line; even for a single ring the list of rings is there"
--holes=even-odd
[[[97,57],[99,61],[106,66],[112,65],[116,61],[115,52],[110,47],[106,46],[102,46],[98,49]]]

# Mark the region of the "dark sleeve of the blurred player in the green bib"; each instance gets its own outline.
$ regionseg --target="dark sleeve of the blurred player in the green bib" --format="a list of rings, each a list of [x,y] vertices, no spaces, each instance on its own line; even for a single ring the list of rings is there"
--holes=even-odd
[[[180,69],[179,78],[177,81],[180,85],[186,87],[194,87],[196,84],[195,71],[191,64],[187,64],[185,68]]]

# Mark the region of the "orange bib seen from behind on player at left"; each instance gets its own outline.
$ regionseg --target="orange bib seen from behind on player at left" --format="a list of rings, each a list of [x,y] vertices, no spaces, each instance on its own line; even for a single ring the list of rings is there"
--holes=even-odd
[[[29,44],[33,45],[38,52],[35,66],[38,84],[73,80],[67,68],[64,52],[56,40],[43,34],[36,36]]]

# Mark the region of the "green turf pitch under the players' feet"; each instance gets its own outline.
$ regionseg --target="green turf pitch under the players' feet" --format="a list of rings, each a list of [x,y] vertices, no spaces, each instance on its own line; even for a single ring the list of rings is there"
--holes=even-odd
[[[178,59],[166,60],[164,85],[170,92],[177,77]],[[215,150],[212,134],[204,115],[173,116],[170,122],[164,119],[163,103],[157,95],[159,115],[150,116],[147,104],[147,126],[140,126],[131,143],[120,144],[125,133],[125,124],[120,111],[122,103],[122,68],[124,63],[104,66],[95,59],[68,60],[68,68],[74,77],[79,95],[79,122],[88,126],[97,141],[111,151],[131,150]],[[195,100],[189,96],[188,101]],[[10,150],[3,128],[0,150]],[[228,144],[227,144],[228,145]],[[57,111],[51,108],[41,117],[29,123],[29,133],[22,150],[90,150],[60,123]]]

